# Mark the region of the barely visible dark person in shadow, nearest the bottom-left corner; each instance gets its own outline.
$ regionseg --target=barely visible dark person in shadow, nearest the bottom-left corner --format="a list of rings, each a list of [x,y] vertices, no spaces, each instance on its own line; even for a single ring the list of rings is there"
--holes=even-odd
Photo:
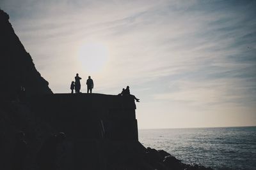
[[[12,157],[12,169],[24,169],[25,158],[27,154],[27,143],[25,141],[24,132],[20,131],[16,134],[16,143]]]

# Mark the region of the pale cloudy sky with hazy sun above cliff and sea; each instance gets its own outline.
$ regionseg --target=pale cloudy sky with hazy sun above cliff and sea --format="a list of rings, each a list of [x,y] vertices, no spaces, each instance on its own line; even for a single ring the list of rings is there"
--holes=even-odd
[[[130,86],[139,129],[256,125],[256,1],[0,0],[54,93]]]

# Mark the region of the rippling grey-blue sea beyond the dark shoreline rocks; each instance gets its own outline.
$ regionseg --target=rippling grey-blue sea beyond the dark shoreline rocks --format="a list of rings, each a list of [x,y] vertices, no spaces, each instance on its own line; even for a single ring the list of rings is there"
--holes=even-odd
[[[186,164],[256,170],[256,127],[140,129],[139,141]]]

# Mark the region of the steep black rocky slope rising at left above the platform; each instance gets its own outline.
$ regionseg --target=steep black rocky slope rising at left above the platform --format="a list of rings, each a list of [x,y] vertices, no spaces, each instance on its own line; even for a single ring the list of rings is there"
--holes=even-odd
[[[0,98],[17,97],[20,87],[25,87],[28,96],[52,94],[8,20],[8,14],[0,10]]]

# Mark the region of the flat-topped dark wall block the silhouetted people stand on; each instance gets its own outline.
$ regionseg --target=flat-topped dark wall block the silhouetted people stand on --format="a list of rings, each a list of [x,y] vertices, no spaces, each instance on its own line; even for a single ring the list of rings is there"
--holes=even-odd
[[[130,96],[51,94],[29,99],[36,117],[74,139],[138,141],[136,105]]]

